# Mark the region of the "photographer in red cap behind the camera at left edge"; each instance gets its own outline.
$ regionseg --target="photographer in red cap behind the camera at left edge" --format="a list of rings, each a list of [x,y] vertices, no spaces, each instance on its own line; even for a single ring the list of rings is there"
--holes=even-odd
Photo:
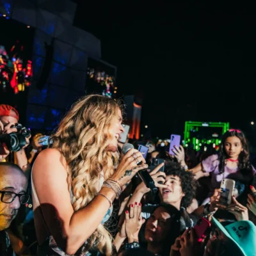
[[[0,136],[1,134],[12,134],[17,133],[17,123],[19,122],[19,113],[12,106],[0,104]],[[15,126],[16,125],[16,126]],[[14,127],[13,127],[14,126]],[[26,141],[24,141],[23,147],[13,152],[13,159],[11,158],[11,150],[8,149],[6,143],[0,140],[0,161],[9,161],[17,164],[25,174],[30,170],[30,164],[28,163],[28,158],[26,157],[24,147],[29,145],[29,138],[24,137]]]

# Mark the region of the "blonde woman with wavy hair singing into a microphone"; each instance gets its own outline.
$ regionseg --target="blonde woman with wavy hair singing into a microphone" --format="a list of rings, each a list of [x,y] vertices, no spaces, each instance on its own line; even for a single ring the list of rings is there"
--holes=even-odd
[[[100,95],[78,100],[60,122],[32,171],[38,255],[111,255],[112,202],[147,168],[136,149],[119,161],[122,132],[122,107]]]

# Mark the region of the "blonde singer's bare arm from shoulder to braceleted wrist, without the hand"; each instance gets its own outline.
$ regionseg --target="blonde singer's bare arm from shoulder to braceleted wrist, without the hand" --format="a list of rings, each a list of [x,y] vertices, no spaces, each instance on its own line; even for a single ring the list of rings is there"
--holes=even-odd
[[[67,163],[58,150],[48,148],[38,155],[33,182],[44,220],[58,246],[73,255],[99,226],[109,202],[104,196],[95,196],[90,204],[74,212],[67,178]],[[111,201],[116,196],[109,188],[102,188],[100,193]]]

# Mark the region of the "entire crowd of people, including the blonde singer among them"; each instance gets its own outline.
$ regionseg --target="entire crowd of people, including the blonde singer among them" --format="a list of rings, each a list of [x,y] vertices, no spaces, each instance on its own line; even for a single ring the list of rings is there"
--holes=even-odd
[[[128,138],[124,154],[124,111],[84,96],[49,138],[32,131],[12,150],[19,113],[0,105],[0,255],[255,256],[256,171],[244,133],[225,132],[218,152],[196,158],[150,141],[145,157]],[[227,179],[234,188],[223,191]]]

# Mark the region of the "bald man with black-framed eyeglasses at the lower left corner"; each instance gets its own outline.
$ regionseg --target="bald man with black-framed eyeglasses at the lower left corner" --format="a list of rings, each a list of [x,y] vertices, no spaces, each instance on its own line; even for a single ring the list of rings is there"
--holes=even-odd
[[[0,255],[13,255],[6,232],[16,217],[20,205],[27,204],[28,180],[24,172],[13,163],[0,163]]]

